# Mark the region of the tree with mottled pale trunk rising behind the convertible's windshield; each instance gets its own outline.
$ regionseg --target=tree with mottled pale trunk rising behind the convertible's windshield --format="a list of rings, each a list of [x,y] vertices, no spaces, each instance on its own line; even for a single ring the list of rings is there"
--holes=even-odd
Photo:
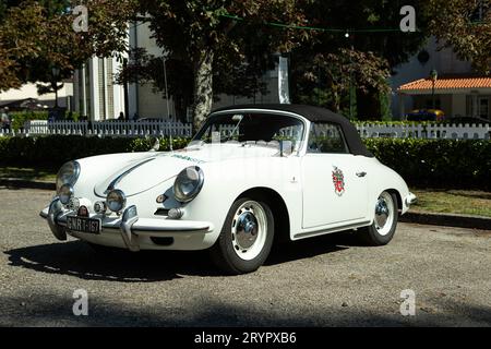
[[[264,25],[265,21],[301,24],[303,1],[299,0],[142,0],[140,3],[141,13],[149,17],[153,37],[166,55],[192,68],[196,128],[211,111],[214,71],[224,73],[217,70],[219,64],[237,68],[242,61],[251,68],[251,61],[244,60],[251,56],[248,50],[258,52],[255,48],[262,47],[262,55],[287,51],[304,35]],[[240,25],[229,15],[239,16]],[[247,72],[248,65],[241,68],[239,71]]]

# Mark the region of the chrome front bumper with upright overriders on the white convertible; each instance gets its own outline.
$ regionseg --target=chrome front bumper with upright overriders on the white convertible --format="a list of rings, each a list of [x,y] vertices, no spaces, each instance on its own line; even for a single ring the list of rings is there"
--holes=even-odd
[[[60,241],[67,240],[67,217],[76,216],[76,212],[64,208],[58,197],[55,197],[48,207],[39,214],[48,221],[52,234]],[[208,221],[173,220],[165,217],[141,218],[135,205],[125,208],[120,218],[109,218],[100,215],[91,215],[89,218],[101,220],[101,232],[119,230],[124,245],[130,251],[140,251],[139,237],[185,237],[205,234],[213,231]],[[70,233],[70,231],[69,231]],[[80,233],[79,233],[80,234]]]

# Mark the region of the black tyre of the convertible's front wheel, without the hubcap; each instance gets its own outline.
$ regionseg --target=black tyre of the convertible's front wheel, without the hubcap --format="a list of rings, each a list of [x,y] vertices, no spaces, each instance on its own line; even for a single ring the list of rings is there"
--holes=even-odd
[[[236,240],[232,233],[233,229],[232,227],[233,225],[237,225],[238,219],[235,218],[236,214],[238,213],[238,209],[241,208],[242,205],[251,202],[256,203],[262,207],[267,224],[266,228],[263,229],[264,230],[263,233],[265,233],[265,236],[261,236],[260,238],[260,234],[258,234],[254,244],[250,249],[252,250],[252,248],[254,248],[256,249],[256,251],[260,252],[255,257],[251,260],[244,260],[239,256],[241,251],[238,248],[237,242],[238,240]],[[220,269],[230,275],[239,275],[255,272],[260,266],[264,264],[267,256],[270,255],[271,248],[273,245],[274,231],[275,227],[273,213],[270,206],[266,204],[265,200],[249,198],[249,197],[239,198],[230,207],[230,210],[228,212],[227,217],[225,219],[224,227],[221,228],[221,232],[215,244],[209,250],[212,260]],[[262,239],[264,239],[264,243],[261,242]],[[255,243],[260,244],[255,245]]]

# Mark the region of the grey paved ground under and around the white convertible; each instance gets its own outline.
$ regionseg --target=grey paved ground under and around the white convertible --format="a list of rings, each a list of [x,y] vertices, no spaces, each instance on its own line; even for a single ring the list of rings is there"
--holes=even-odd
[[[0,326],[491,326],[491,233],[402,224],[384,248],[349,234],[283,245],[258,273],[206,253],[96,255],[38,217],[51,193],[0,189]],[[85,289],[89,315],[72,313]],[[416,292],[416,316],[399,313]]]

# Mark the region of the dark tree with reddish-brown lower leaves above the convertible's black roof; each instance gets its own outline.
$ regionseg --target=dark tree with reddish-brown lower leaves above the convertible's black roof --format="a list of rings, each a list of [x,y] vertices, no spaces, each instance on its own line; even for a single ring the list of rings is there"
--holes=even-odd
[[[419,9],[420,2],[404,4]],[[419,12],[419,32],[399,31],[400,8],[398,1],[385,0],[310,2],[304,8],[306,20],[325,31],[314,31],[312,39],[291,53],[294,101],[345,115],[354,96],[363,105],[379,101],[388,92],[393,68],[416,53],[428,36],[427,16]],[[374,105],[369,113],[380,115],[383,106]]]

